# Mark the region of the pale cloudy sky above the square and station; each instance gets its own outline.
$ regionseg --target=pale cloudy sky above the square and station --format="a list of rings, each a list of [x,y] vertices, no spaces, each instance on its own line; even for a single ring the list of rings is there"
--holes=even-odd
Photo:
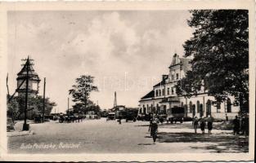
[[[9,11],[8,84],[16,89],[21,59],[34,59],[42,80],[39,95],[67,109],[68,90],[80,75],[95,77],[99,91],[90,99],[101,108],[117,104],[137,107],[163,74],[173,54],[192,37],[188,11]],[[70,107],[74,104],[70,101]]]

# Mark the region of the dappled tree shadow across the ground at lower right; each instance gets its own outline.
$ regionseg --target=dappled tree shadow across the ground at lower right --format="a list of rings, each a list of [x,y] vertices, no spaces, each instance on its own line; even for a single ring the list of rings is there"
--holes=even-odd
[[[158,134],[159,143],[205,143],[206,146],[191,147],[213,152],[249,152],[249,138],[231,134],[165,133]],[[207,145],[207,143],[214,143]]]

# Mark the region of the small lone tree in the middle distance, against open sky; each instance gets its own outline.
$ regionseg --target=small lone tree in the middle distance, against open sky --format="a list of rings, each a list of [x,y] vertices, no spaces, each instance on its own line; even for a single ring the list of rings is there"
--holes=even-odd
[[[89,104],[89,98],[92,91],[98,91],[97,86],[94,86],[94,77],[90,75],[82,75],[76,78],[76,84],[70,89],[70,95],[73,97],[74,102],[83,104],[84,108],[87,108]]]

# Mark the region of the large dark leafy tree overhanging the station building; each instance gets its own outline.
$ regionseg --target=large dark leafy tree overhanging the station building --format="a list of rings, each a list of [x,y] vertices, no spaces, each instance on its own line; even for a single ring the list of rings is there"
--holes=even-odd
[[[191,56],[186,81],[196,95],[205,86],[217,101],[234,95],[240,107],[249,104],[249,15],[246,10],[194,10],[188,25],[195,29],[185,42],[185,56]]]

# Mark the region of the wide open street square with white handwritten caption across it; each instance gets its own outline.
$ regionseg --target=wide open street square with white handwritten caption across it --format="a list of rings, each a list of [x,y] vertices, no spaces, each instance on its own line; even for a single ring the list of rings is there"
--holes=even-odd
[[[20,122],[21,124],[21,122]],[[18,124],[17,124],[18,125]],[[248,137],[231,130],[194,134],[191,122],[159,124],[153,143],[149,121],[85,120],[80,123],[49,121],[30,124],[34,134],[8,137],[11,153],[150,153],[150,152],[248,152]],[[206,130],[207,132],[207,130]],[[36,145],[35,145],[36,144]]]

